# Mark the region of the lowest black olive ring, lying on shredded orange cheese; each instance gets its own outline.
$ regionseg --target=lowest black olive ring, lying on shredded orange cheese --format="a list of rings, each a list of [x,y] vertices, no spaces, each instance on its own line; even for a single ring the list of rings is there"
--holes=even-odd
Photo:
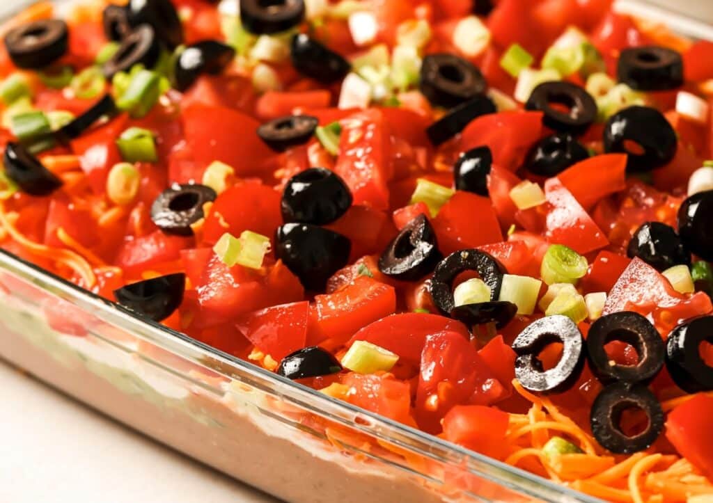
[[[621,419],[625,410],[643,410],[648,419],[645,430],[635,435],[622,432]],[[592,404],[590,411],[592,433],[605,449],[615,454],[632,454],[648,449],[661,435],[664,413],[661,404],[650,390],[641,384],[610,384]]]

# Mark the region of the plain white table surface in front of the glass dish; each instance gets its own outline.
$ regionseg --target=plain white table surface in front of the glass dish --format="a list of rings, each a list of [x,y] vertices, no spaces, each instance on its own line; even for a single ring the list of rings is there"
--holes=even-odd
[[[276,503],[0,361],[0,502]]]

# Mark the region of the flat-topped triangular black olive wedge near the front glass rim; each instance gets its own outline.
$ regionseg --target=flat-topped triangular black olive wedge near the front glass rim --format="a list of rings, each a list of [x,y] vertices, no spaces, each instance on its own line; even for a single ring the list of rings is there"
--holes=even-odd
[[[116,301],[153,321],[163,321],[173,313],[185,291],[185,274],[168,274],[139,281],[114,290]]]

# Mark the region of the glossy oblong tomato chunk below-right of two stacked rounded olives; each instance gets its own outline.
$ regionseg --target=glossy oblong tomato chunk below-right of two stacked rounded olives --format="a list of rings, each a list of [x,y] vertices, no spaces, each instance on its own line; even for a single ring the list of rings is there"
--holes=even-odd
[[[332,294],[314,297],[317,330],[336,342],[347,342],[361,327],[394,311],[394,287],[369,276],[359,276]]]

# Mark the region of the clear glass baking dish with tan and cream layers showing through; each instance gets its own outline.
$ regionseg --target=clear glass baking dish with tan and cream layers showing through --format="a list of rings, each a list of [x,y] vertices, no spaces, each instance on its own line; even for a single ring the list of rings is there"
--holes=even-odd
[[[599,501],[145,321],[5,251],[0,358],[290,502]]]

